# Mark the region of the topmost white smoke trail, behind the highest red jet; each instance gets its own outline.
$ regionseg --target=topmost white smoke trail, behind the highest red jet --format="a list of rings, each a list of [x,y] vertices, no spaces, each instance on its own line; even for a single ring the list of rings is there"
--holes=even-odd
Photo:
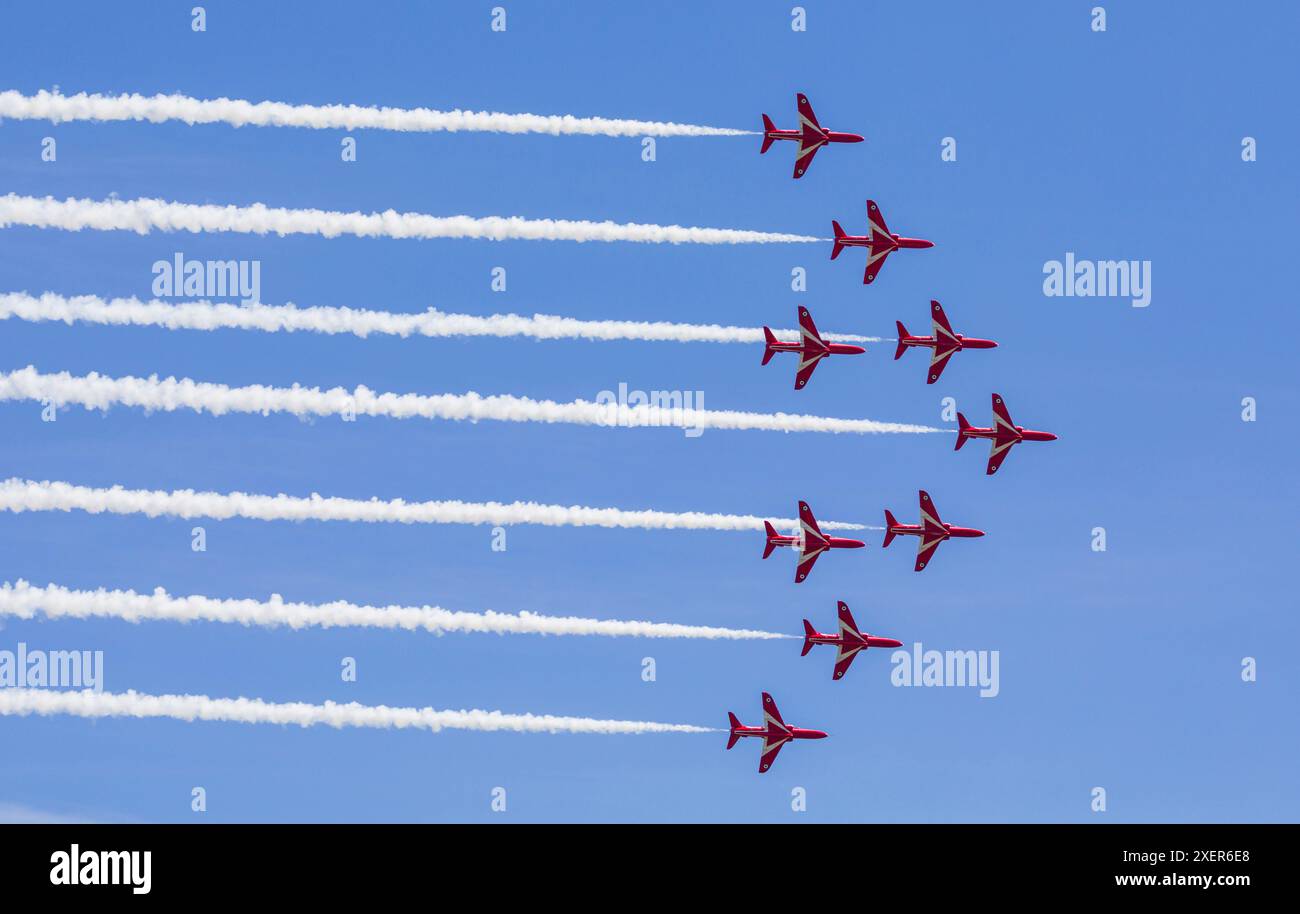
[[[61,95],[44,90],[0,92],[0,118],[23,121],[183,121],[233,127],[311,127],[315,130],[398,130],[406,133],[476,131],[588,137],[751,137],[751,130],[702,127],[664,121],[628,121],[572,114],[502,114],[430,108],[294,105],[283,101],[194,99],[186,95]]]

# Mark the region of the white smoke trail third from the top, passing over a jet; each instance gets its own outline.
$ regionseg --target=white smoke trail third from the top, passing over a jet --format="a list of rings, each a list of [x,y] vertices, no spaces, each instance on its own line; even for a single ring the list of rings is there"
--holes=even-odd
[[[142,302],[136,298],[103,299],[96,295],[64,296],[0,293],[0,320],[62,321],[114,326],[157,326],[168,330],[263,330],[265,333],[370,334],[394,337],[532,337],[534,339],[640,339],[679,343],[760,343],[763,329],[719,324],[668,321],[589,321],[555,315],[452,315],[430,308],[422,313],[363,308],[306,307],[295,304],[230,304],[196,302]],[[775,330],[794,339],[797,330]],[[836,343],[872,343],[880,337],[823,333]]]

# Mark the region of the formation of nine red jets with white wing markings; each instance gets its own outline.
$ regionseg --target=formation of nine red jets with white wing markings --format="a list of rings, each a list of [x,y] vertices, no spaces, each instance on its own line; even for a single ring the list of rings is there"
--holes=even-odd
[[[809,165],[812,164],[812,157],[822,147],[832,143],[861,143],[863,138],[858,134],[826,130],[812,113],[812,105],[809,104],[807,96],[801,92],[796,98],[800,117],[798,129],[779,130],[772,124],[772,120],[767,114],[763,114],[763,146],[759,152],[767,152],[776,140],[792,140],[798,143],[798,150],[794,156],[794,178],[802,178],[807,173]],[[867,200],[867,234],[850,235],[837,221],[831,222],[831,229],[835,233],[833,247],[831,248],[831,260],[838,257],[848,247],[866,248],[867,267],[866,273],[862,277],[862,282],[864,285],[875,282],[881,267],[884,267],[885,259],[894,251],[920,250],[935,246],[933,242],[923,238],[906,238],[889,231],[884,215],[880,212],[880,207],[876,205],[875,200]],[[926,384],[935,384],[939,381],[939,377],[944,373],[944,368],[948,367],[948,363],[954,354],[963,350],[988,350],[997,347],[997,343],[992,339],[966,337],[954,332],[948,320],[948,315],[944,313],[944,308],[939,302],[932,300],[930,303],[930,320],[931,334],[927,337],[913,335],[907,332],[907,328],[904,326],[902,321],[896,321],[898,337],[894,341],[897,343],[897,348],[894,350],[896,361],[901,359],[909,348],[928,348],[931,351],[930,367],[926,371]],[[866,352],[862,346],[850,346],[848,343],[827,342],[823,339],[822,334],[818,333],[816,324],[812,322],[812,315],[802,306],[798,309],[798,324],[800,338],[790,341],[777,339],[776,334],[774,334],[770,328],[763,328],[764,348],[762,364],[766,365],[777,352],[794,352],[798,355],[800,361],[794,372],[796,390],[802,390],[807,385],[809,380],[812,377],[812,372],[816,371],[816,367],[827,356],[862,355]],[[1006,403],[1002,400],[1000,394],[993,394],[992,400],[993,424],[988,428],[971,425],[966,421],[965,415],[961,412],[957,413],[958,428],[956,450],[961,450],[962,446],[972,438],[984,438],[989,441],[992,446],[988,456],[988,464],[984,471],[987,476],[992,476],[998,471],[1002,462],[1006,460],[1015,445],[1026,441],[1056,441],[1056,436],[1050,432],[1036,432],[1034,429],[1026,429],[1017,425],[1011,420],[1011,413],[1008,411]],[[918,493],[918,499],[920,516],[915,524],[901,524],[893,516],[892,511],[888,508],[885,510],[885,536],[884,542],[881,543],[881,547],[888,547],[896,537],[916,537],[916,560],[913,566],[914,571],[924,571],[926,567],[928,567],[933,560],[940,543],[945,540],[966,540],[984,536],[984,530],[974,527],[958,527],[941,520],[933,499],[924,489]],[[820,527],[818,527],[816,517],[812,516],[812,510],[807,506],[807,502],[800,502],[798,528],[789,536],[780,533],[771,521],[764,521],[764,528],[767,536],[767,541],[763,547],[764,559],[777,547],[789,547],[798,554],[798,562],[794,567],[796,584],[801,584],[807,579],[809,572],[812,571],[812,566],[823,553],[828,553],[835,549],[862,549],[866,546],[866,543],[861,540],[827,536],[823,533]],[[835,667],[831,675],[833,680],[844,677],[844,673],[848,672],[854,658],[870,647],[902,646],[902,642],[896,638],[864,634],[854,621],[848,605],[842,601],[838,605],[838,616],[840,628],[833,634],[823,634],[818,632],[812,627],[812,623],[807,619],[803,620],[802,655],[807,655],[807,653],[818,645],[835,646]],[[763,693],[763,724],[760,727],[746,727],[732,712],[728,712],[727,718],[728,731],[731,735],[727,740],[728,749],[734,746],[741,738],[762,738],[763,744],[758,762],[759,772],[764,772],[772,767],[772,762],[776,761],[777,753],[781,751],[781,748],[785,744],[796,740],[822,740],[827,736],[826,732],[820,729],[806,729],[786,724],[781,718],[781,712],[776,707],[776,702],[767,692]]]

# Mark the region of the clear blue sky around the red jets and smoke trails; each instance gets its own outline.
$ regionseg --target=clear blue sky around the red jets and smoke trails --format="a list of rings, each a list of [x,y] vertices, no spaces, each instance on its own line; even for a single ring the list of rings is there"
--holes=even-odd
[[[536,499],[789,517],[915,520],[930,490],[983,540],[759,562],[762,537],[489,528],[0,516],[0,577],[74,588],[653,619],[800,631],[846,601],[866,631],[926,647],[1000,651],[1001,692],[907,689],[889,653],[831,681],[829,649],[798,644],[286,632],[217,624],[4,621],[0,647],[105,653],[109,690],[484,707],[723,725],[759,692],[831,733],[757,774],[718,735],[370,732],[72,718],[0,719],[0,807],[101,820],[1295,820],[1294,572],[1300,437],[1287,341],[1300,329],[1283,268],[1297,181],[1282,4],[192,4],[113,10],[9,5],[0,88],[183,92],[298,103],[473,108],[864,134],[789,178],[793,151],[755,137],[636,139],[0,124],[0,192],[436,215],[611,218],[828,234],[864,229],[876,199],[930,251],[862,286],[862,252],[829,244],[642,246],[131,235],[5,229],[0,287],[150,294],[155,260],[259,259],[263,300],[394,311],[533,311],[589,319],[919,332],[927,303],[992,352],[939,385],[892,345],[832,360],[792,390],[789,356],[757,346],[380,339],[91,326],[0,328],[0,364],[188,376],[225,384],[365,384],[555,399],[632,387],[702,390],[711,408],[946,424],[953,397],[987,424],[1061,436],[994,478],[985,446],[946,436],[814,436],[478,425],[286,416],[146,416],[81,408],[42,423],[0,406],[3,476],[83,485]],[[183,7],[183,8],[182,8]],[[39,157],[58,142],[56,164]],[[954,137],[958,160],[940,160]],[[1258,161],[1243,163],[1254,137]],[[1045,298],[1043,264],[1152,261],[1152,303]],[[508,270],[508,291],[489,290]],[[805,267],[806,294],[789,287]],[[1243,423],[1253,397],[1258,421]],[[976,451],[972,454],[971,451]],[[1091,550],[1105,527],[1108,551]],[[339,663],[355,657],[359,681]],[[641,679],[642,658],[658,679]],[[1258,681],[1243,683],[1244,657]],[[190,811],[203,787],[208,811]],[[504,787],[508,811],[493,814]],[[790,790],[807,811],[790,811]],[[1104,787],[1108,810],[1089,809]],[[14,811],[18,810],[18,811]],[[26,810],[26,813],[22,813]]]

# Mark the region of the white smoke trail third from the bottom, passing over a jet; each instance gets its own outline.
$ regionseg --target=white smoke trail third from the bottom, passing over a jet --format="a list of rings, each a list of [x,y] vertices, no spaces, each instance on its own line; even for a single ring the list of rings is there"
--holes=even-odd
[[[176,491],[150,489],[92,489],[69,482],[8,478],[0,482],[0,511],[86,511],[88,514],[142,514],[148,517],[212,517],[228,520],[346,520],[365,524],[537,524],[541,527],[608,527],[645,530],[762,530],[754,515],[690,511],[624,511],[537,502],[406,502],[400,498],[252,495],[243,491]],[[772,520],[785,528],[797,520]],[[823,530],[878,529],[862,524],[823,520]]]

